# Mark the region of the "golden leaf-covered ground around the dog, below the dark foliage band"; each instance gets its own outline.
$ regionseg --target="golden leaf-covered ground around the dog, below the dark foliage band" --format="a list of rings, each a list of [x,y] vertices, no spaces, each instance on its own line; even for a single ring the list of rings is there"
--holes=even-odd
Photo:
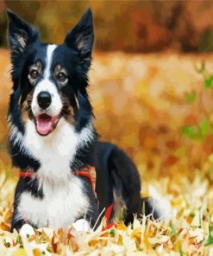
[[[5,144],[7,50],[0,66],[0,255],[213,255],[213,55],[95,54],[97,131],[133,157],[141,195],[157,191],[172,214],[90,233],[28,226],[9,233],[17,170]]]

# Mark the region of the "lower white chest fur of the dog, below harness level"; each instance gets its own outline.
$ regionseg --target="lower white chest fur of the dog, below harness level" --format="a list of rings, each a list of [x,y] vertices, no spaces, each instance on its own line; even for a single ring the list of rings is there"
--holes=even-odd
[[[18,205],[19,217],[37,227],[68,228],[86,213],[89,201],[83,193],[83,184],[72,177],[64,185],[52,186],[43,182],[44,198],[35,198],[23,192]]]

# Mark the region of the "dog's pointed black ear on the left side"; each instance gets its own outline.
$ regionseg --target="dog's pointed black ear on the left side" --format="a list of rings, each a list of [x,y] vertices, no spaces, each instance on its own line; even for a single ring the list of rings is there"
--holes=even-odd
[[[9,46],[12,57],[22,54],[29,42],[38,39],[37,29],[33,29],[27,22],[17,16],[11,10],[7,10],[9,17]]]

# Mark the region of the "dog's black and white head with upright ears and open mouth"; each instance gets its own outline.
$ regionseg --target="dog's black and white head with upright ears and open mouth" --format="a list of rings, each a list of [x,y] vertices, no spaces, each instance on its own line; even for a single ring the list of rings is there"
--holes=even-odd
[[[94,41],[91,10],[61,45],[41,43],[39,32],[8,10],[12,80],[9,114],[22,132],[28,119],[47,136],[65,118],[80,131],[90,122],[86,92]]]

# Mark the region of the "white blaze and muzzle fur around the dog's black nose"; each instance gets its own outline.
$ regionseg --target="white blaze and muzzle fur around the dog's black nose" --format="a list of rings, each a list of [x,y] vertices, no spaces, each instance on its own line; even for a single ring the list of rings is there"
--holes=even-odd
[[[52,96],[52,102],[45,111],[47,115],[52,117],[59,115],[61,112],[61,108],[63,106],[60,99],[60,94],[58,93],[54,83],[50,80],[51,65],[53,61],[53,53],[55,48],[57,48],[57,46],[54,44],[47,46],[46,67],[44,70],[43,79],[35,86],[34,96],[32,99],[31,107],[32,107],[32,112],[34,114],[34,117],[37,117],[39,114],[43,112],[43,110],[40,108],[37,102],[38,94],[41,92],[48,92]]]

